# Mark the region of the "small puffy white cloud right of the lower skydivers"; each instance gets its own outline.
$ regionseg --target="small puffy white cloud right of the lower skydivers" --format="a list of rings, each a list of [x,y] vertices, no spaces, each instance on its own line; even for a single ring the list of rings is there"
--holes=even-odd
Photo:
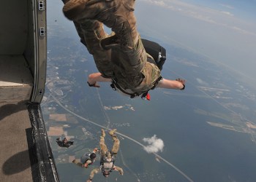
[[[162,151],[165,146],[162,139],[157,138],[157,135],[154,135],[151,138],[143,138],[143,141],[148,143],[148,146],[144,147],[144,150],[148,153],[157,153],[158,151]]]

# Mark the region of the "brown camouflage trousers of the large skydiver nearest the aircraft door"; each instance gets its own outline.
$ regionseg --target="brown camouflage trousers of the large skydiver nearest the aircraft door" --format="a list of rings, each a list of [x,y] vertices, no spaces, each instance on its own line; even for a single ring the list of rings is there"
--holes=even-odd
[[[129,1],[129,3],[134,4],[132,1]],[[101,4],[100,6],[103,5]],[[160,71],[156,65],[147,62],[146,50],[143,47],[135,25],[136,19],[132,7],[133,5],[130,8],[127,8],[127,5],[118,7],[116,11],[120,15],[115,15],[106,9],[105,14],[102,14],[100,18],[98,17],[99,20],[102,18],[103,22],[110,24],[108,26],[113,31],[116,31],[114,33],[116,33],[118,39],[120,38],[120,44],[117,44],[110,50],[103,50],[100,46],[100,40],[109,36],[105,33],[102,22],[89,18],[81,18],[79,22],[74,20],[74,23],[80,40],[86,45],[89,53],[93,55],[95,64],[103,77],[115,79],[117,84],[124,90],[144,92],[154,86],[154,83],[160,76]],[[90,10],[94,14],[93,9],[88,9],[88,11]],[[96,10],[99,11],[97,8]],[[86,16],[89,17],[87,14]],[[107,17],[109,20],[105,20]],[[115,23],[115,18],[118,17],[125,17],[127,19],[124,18],[126,20],[124,20],[124,24],[121,23],[119,25],[117,23],[118,25],[115,27],[112,24]],[[121,25],[126,25],[129,28],[123,30],[120,28]]]

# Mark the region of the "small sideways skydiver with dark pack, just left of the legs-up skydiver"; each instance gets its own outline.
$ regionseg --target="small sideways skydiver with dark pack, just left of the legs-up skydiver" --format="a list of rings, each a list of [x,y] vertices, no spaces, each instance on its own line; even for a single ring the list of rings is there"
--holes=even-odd
[[[85,153],[80,158],[80,162],[78,160],[73,160],[72,162],[75,163],[75,165],[78,165],[80,167],[89,167],[89,165],[92,165],[95,162],[95,159],[97,157],[96,153],[99,151],[99,149],[95,148],[94,151],[91,153]]]

